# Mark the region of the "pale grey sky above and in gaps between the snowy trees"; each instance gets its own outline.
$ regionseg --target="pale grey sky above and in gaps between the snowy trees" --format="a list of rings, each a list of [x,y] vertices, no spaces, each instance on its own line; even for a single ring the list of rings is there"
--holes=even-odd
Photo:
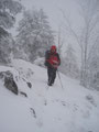
[[[46,15],[48,16],[48,21],[52,26],[52,30],[58,31],[58,26],[62,24],[63,21],[65,22],[59,9],[63,9],[67,14],[67,16],[69,16],[73,28],[78,30],[79,29],[78,25],[81,24],[76,0],[21,0],[21,3],[26,9],[30,9],[30,10],[32,8],[43,9]],[[20,18],[21,16],[18,15],[18,20],[20,20]],[[14,26],[16,28],[16,25],[18,23]],[[14,36],[16,34],[15,29],[12,29],[12,32]],[[67,34],[64,34],[63,37],[65,40],[64,47],[66,48],[66,45],[68,43],[72,43],[77,54],[79,54],[79,48],[78,48],[78,45],[75,44],[75,40],[70,36],[68,37]],[[56,34],[56,43],[57,43],[57,34]]]

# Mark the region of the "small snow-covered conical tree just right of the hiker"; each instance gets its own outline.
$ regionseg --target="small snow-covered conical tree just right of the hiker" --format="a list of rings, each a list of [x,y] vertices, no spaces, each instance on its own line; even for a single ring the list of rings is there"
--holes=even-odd
[[[61,72],[72,78],[79,77],[79,68],[77,64],[77,57],[72,44],[68,44],[64,57],[62,57]]]

